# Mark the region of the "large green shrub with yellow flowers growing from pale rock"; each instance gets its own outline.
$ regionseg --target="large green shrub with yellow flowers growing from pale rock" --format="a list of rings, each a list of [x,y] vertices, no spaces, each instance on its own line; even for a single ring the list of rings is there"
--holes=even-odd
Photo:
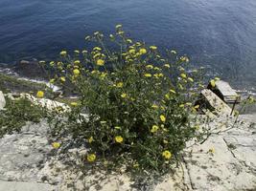
[[[191,114],[198,109],[199,71],[185,55],[163,56],[156,46],[133,42],[121,25],[109,35],[117,52],[106,49],[101,32],[85,39],[98,46],[72,57],[62,51],[50,62],[56,74],[51,83],[72,88],[80,99],[71,104],[65,130],[87,141],[87,162],[170,169],[198,134]]]

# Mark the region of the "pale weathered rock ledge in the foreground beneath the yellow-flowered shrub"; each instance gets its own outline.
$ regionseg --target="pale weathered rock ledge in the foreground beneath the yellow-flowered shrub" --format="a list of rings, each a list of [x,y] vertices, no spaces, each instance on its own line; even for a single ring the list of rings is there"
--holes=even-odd
[[[253,191],[256,115],[242,115],[238,126],[228,130],[233,121],[233,117],[217,117],[211,125],[228,124],[221,134],[189,146],[174,174],[147,180],[131,180],[122,170],[93,173],[81,160],[86,155],[84,145],[66,138],[59,140],[69,142],[63,145],[65,152],[54,150],[47,122],[27,123],[19,134],[0,138],[0,191]]]

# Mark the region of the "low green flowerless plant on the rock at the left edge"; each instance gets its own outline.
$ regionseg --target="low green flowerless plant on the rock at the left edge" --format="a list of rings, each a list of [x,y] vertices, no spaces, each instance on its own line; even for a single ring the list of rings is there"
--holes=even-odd
[[[0,111],[0,138],[5,134],[19,132],[27,121],[39,122],[40,118],[46,117],[45,110],[27,98],[12,100],[6,97],[6,100],[5,110]]]

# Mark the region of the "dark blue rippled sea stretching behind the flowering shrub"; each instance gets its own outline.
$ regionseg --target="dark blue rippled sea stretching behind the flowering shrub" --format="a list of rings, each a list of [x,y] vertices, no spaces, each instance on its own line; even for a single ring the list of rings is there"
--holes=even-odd
[[[235,87],[256,88],[256,0],[0,0],[0,62],[83,49],[84,36],[116,24]]]

